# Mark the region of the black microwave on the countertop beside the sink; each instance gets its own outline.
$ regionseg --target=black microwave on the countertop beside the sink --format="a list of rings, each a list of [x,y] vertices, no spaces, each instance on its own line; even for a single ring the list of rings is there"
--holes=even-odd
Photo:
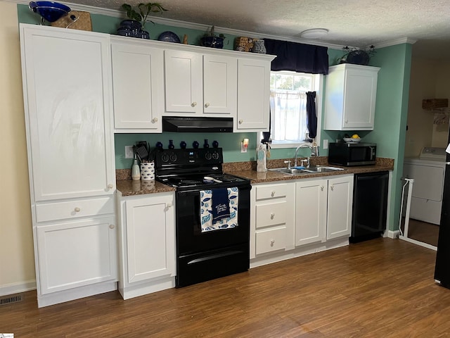
[[[375,143],[330,143],[328,163],[338,165],[375,164],[377,145]]]

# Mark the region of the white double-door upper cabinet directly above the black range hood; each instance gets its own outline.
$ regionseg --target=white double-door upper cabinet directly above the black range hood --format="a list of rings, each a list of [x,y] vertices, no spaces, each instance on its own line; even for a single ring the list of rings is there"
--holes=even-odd
[[[236,115],[236,58],[165,51],[167,115]]]

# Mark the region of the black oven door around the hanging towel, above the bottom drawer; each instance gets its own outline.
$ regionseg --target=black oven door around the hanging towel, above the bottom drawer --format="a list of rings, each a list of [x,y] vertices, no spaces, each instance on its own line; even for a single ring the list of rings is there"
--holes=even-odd
[[[200,227],[199,189],[176,192],[176,253],[178,256],[249,242],[251,186],[238,187],[238,189],[238,226],[208,232],[202,232]]]

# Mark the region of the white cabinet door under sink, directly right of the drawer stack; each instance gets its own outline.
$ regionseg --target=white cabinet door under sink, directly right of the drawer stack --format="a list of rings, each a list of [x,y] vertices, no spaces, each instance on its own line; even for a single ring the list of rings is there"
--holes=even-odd
[[[296,183],[295,245],[324,242],[327,218],[327,180]]]

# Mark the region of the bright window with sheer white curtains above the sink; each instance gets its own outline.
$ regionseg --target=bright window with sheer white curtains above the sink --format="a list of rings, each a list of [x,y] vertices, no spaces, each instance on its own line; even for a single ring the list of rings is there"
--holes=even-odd
[[[316,91],[319,142],[319,82],[321,75],[288,71],[271,72],[271,139],[273,148],[291,148],[309,142],[307,128],[307,92]]]

